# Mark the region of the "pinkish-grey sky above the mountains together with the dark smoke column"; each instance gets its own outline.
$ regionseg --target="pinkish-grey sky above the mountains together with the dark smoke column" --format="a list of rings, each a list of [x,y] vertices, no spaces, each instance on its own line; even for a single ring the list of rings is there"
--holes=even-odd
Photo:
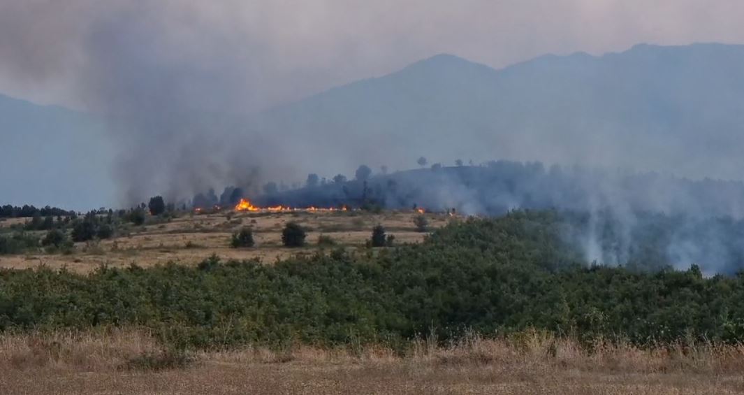
[[[743,20],[733,0],[0,0],[0,93],[103,121],[121,192],[102,204],[127,205],[307,174],[276,161],[280,136],[234,130],[435,54],[503,68],[641,42],[744,43]]]

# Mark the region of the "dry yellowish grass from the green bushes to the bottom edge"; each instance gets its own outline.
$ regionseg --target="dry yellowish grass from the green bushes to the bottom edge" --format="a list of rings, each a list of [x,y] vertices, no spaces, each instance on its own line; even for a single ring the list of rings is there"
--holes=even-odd
[[[531,334],[421,342],[408,356],[297,348],[204,352],[188,367],[127,368],[163,350],[136,330],[2,335],[0,394],[742,394],[744,348],[638,350]]]

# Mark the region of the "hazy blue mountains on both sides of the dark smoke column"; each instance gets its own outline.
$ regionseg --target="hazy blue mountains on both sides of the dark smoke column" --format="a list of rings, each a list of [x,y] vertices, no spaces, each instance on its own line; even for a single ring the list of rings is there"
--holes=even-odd
[[[0,200],[113,203],[102,129],[77,112],[0,97]],[[743,132],[744,45],[722,44],[546,55],[498,70],[442,54],[246,125],[285,141],[281,160],[325,176],[362,163],[416,167],[423,155],[430,164],[540,160],[742,179]]]

